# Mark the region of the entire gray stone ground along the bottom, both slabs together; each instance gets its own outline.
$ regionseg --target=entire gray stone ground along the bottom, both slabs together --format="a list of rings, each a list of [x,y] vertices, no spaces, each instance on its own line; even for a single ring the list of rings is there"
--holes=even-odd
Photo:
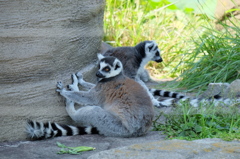
[[[237,159],[240,158],[240,142],[220,139],[195,141],[164,140],[161,132],[150,131],[137,138],[114,138],[100,135],[58,137],[43,141],[18,141],[0,143],[1,159]],[[56,142],[67,146],[91,146],[96,150],[80,155],[57,154]]]

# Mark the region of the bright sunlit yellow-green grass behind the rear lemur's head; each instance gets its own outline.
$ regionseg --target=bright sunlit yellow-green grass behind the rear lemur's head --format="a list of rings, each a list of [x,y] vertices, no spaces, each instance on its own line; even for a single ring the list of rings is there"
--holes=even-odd
[[[167,1],[106,0],[104,41],[113,46],[134,46],[155,40],[164,62],[151,62],[148,69],[156,78],[172,78],[181,73],[172,70],[182,60],[182,54],[195,48],[192,38],[206,30],[202,26],[210,25],[208,18],[176,9]]]

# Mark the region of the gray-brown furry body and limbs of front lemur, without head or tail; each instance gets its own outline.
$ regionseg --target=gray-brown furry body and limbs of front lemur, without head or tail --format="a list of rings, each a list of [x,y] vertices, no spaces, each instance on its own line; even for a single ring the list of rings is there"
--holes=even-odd
[[[119,62],[114,63],[111,68]],[[102,67],[99,71],[103,73],[101,69]],[[122,70],[122,66],[118,69]],[[73,76],[73,79],[76,79],[75,75]],[[66,109],[75,122],[96,127],[100,134],[120,137],[141,136],[151,126],[154,113],[149,96],[141,85],[121,72],[116,76],[101,79],[87,92],[67,91],[62,89],[61,84],[58,84],[58,88],[60,94],[67,100],[90,105],[75,110],[73,103],[70,102],[71,104],[67,103]]]

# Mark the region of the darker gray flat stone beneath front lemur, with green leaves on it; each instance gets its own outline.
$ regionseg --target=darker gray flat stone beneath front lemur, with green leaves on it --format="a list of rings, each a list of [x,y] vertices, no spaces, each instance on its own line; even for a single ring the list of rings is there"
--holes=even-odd
[[[0,158],[1,159],[73,159],[73,158],[87,158],[97,152],[109,150],[117,147],[129,146],[132,144],[140,144],[146,142],[153,142],[156,140],[164,139],[160,132],[149,132],[146,136],[136,138],[114,138],[104,137],[100,135],[82,135],[70,137],[58,137],[43,141],[18,141],[0,143]],[[81,155],[58,155],[60,151],[56,142],[63,143],[67,146],[91,146],[96,150],[83,152]]]

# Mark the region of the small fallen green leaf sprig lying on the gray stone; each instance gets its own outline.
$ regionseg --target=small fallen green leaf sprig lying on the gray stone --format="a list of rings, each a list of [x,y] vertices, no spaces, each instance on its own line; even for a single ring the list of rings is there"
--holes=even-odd
[[[83,151],[92,151],[95,150],[94,147],[87,147],[87,146],[78,146],[78,147],[68,147],[64,144],[61,144],[60,142],[57,142],[57,146],[62,148],[58,154],[72,154],[72,155],[78,155],[79,152]]]

